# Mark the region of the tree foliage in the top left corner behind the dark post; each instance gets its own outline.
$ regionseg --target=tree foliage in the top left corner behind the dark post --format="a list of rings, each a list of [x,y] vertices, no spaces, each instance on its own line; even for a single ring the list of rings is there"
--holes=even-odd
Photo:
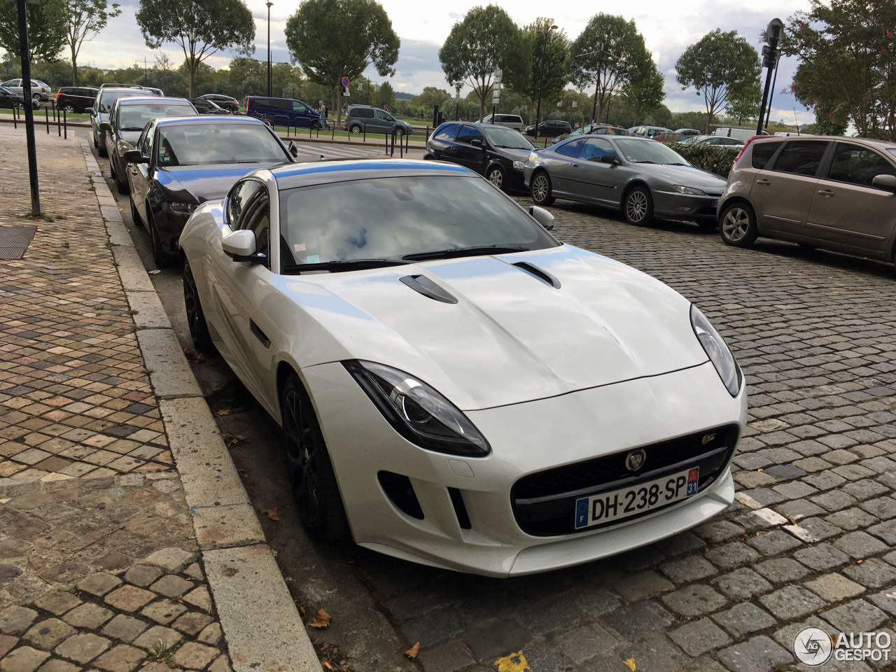
[[[0,0],[0,47],[9,56],[20,56],[17,3]],[[65,0],[43,0],[25,5],[30,61],[54,61],[65,45]],[[18,76],[21,76],[19,73]]]

